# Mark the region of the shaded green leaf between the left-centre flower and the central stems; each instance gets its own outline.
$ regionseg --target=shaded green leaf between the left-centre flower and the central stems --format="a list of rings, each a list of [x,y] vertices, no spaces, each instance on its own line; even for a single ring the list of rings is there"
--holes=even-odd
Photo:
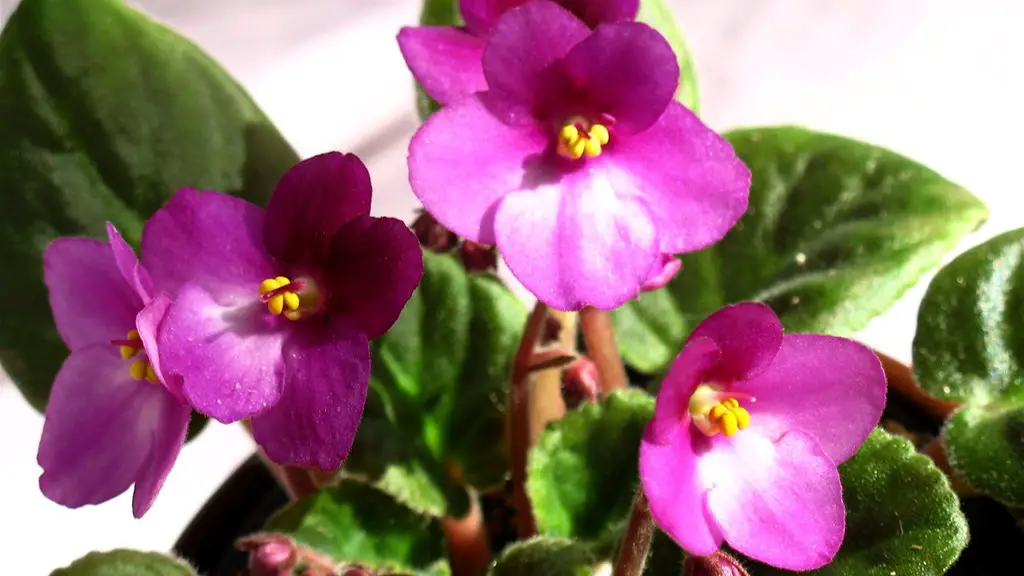
[[[398,321],[374,342],[346,469],[416,509],[458,517],[468,504],[460,483],[488,488],[508,472],[505,390],[526,310],[451,255],[427,252],[424,266]]]

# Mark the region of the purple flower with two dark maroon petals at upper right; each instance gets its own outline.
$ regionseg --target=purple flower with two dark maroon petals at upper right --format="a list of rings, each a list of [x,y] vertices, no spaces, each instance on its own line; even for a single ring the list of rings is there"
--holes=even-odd
[[[160,333],[165,370],[197,410],[252,416],[272,460],[336,468],[359,424],[368,340],[391,327],[423,275],[416,236],[370,217],[358,158],[294,166],[266,211],[178,192],[146,223],[143,258],[177,295]],[[152,259],[152,263],[151,263]]]

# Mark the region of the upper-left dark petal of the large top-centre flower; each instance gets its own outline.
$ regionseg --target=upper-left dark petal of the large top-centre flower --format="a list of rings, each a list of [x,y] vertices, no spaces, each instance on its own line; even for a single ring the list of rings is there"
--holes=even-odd
[[[562,105],[572,85],[561,59],[589,35],[587,25],[546,0],[505,12],[483,48],[488,90],[538,114]]]

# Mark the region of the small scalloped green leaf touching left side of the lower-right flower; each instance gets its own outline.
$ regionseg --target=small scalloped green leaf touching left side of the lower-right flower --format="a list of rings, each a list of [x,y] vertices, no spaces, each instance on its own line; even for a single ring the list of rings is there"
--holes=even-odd
[[[654,399],[616,392],[552,422],[530,450],[526,493],[538,529],[606,553],[633,504],[643,429]]]

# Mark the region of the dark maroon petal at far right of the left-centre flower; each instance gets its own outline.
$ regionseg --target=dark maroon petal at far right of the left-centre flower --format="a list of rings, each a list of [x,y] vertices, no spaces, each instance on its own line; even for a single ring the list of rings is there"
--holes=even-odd
[[[423,277],[416,236],[395,218],[358,217],[334,238],[325,270],[331,310],[376,338],[394,324]]]

